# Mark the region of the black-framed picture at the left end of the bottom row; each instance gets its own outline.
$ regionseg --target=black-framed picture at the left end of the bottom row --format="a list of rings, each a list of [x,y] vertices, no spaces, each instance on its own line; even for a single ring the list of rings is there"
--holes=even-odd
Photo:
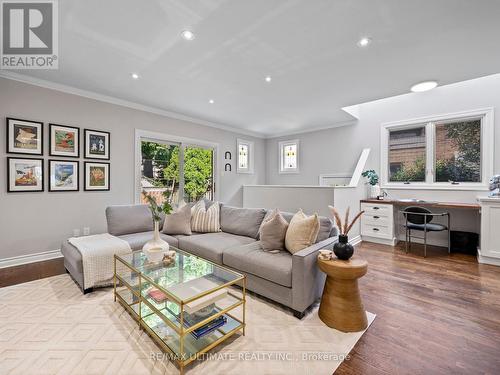
[[[7,191],[43,191],[43,159],[7,158]]]

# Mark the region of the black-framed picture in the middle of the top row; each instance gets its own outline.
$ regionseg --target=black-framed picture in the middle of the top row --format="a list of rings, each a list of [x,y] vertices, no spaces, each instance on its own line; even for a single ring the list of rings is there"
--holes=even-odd
[[[80,129],[73,126],[49,124],[49,155],[80,157]]]

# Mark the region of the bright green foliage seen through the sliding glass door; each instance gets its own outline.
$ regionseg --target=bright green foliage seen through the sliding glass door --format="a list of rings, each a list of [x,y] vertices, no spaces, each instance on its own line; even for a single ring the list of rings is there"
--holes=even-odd
[[[199,147],[184,150],[184,192],[191,200],[202,198],[212,183],[212,151]],[[170,162],[163,170],[168,179],[179,181],[179,149],[172,152]]]

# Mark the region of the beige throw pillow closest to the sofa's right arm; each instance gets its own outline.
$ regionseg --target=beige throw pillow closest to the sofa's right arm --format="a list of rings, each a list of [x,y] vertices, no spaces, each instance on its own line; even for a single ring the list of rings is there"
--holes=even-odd
[[[307,216],[300,210],[293,215],[286,231],[285,246],[292,254],[311,246],[319,233],[318,214]]]

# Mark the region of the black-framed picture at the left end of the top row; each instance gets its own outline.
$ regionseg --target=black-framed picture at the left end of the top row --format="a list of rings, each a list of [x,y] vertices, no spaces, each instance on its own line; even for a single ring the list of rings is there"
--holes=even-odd
[[[43,123],[7,117],[7,153],[43,155]]]

